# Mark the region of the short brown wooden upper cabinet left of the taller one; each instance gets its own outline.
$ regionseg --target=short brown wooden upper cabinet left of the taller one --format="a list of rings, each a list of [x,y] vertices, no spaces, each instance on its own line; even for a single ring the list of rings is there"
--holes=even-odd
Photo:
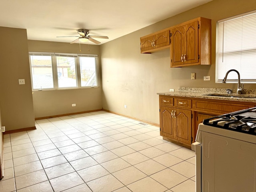
[[[140,38],[140,52],[150,53],[162,48],[169,48],[170,30],[162,30]]]

